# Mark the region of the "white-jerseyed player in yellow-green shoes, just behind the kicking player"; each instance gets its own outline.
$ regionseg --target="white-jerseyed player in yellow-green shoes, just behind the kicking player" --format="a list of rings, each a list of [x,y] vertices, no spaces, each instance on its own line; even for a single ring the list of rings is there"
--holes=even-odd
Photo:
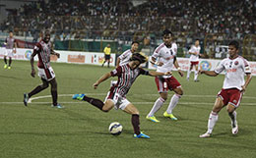
[[[157,72],[165,73],[172,70],[173,65],[178,70],[178,73],[183,77],[183,72],[178,66],[176,59],[177,45],[172,42],[172,32],[165,29],[162,33],[163,43],[154,51],[151,63],[158,66]],[[157,62],[158,59],[158,62]],[[152,122],[160,122],[154,116],[156,112],[159,111],[160,107],[163,105],[164,101],[167,99],[168,90],[173,90],[175,94],[171,97],[167,110],[163,113],[163,116],[170,118],[171,120],[177,120],[177,118],[172,114],[172,110],[177,105],[183,90],[181,84],[173,76],[163,76],[156,77],[156,83],[160,93],[160,97],[155,102],[151,112],[147,115],[146,119]]]

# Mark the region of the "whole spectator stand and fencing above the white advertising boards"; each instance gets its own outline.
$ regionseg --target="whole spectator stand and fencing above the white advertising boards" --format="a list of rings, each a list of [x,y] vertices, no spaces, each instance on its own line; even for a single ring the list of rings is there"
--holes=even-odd
[[[32,47],[45,28],[56,50],[102,52],[110,43],[121,54],[138,40],[151,55],[168,28],[178,57],[200,39],[205,58],[222,59],[235,39],[256,61],[255,0],[0,0],[0,45],[12,30],[19,47]]]

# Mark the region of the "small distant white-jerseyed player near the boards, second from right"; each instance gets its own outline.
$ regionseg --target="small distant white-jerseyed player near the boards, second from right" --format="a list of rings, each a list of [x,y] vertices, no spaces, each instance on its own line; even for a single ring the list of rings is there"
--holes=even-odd
[[[190,54],[190,58],[189,58],[190,67],[187,71],[187,80],[189,80],[190,73],[191,73],[193,67],[195,67],[194,81],[199,81],[197,79],[197,77],[198,77],[199,57],[201,56],[200,49],[201,49],[201,47],[199,45],[199,39],[196,39],[195,45],[192,45],[188,51],[188,53]]]

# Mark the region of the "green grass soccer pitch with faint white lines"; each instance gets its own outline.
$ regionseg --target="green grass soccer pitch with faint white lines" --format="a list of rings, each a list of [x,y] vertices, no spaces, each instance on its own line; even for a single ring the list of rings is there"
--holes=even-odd
[[[0,157],[1,158],[252,158],[256,157],[256,81],[252,79],[240,107],[237,109],[239,132],[231,134],[225,108],[219,116],[213,137],[199,138],[206,132],[215,96],[223,86],[224,76],[199,76],[200,81],[174,77],[180,81],[184,95],[173,113],[174,122],[163,118],[173,92],[156,117],[159,124],[145,119],[159,97],[155,79],[139,77],[127,98],[140,111],[141,130],[150,139],[133,138],[131,116],[121,110],[100,112],[87,102],[71,99],[74,93],[88,93],[104,99],[110,79],[95,90],[93,83],[111,69],[100,66],[52,63],[58,82],[59,102],[64,109],[51,108],[50,89],[36,94],[28,107],[23,93],[40,83],[30,76],[30,62],[14,61],[11,70],[0,67]],[[36,71],[37,72],[37,71]],[[45,96],[44,98],[41,98]],[[108,132],[111,122],[119,122],[123,132],[113,136]]]

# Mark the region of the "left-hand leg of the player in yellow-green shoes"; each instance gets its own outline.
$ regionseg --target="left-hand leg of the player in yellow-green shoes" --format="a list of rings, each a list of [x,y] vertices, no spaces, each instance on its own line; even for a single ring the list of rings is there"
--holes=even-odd
[[[163,105],[164,101],[167,99],[167,83],[164,79],[160,79],[158,77],[155,78],[156,84],[158,86],[158,91],[160,92],[160,97],[156,100],[152,110],[147,115],[146,119],[153,121],[153,122],[160,122],[154,116],[160,110],[160,107]]]

